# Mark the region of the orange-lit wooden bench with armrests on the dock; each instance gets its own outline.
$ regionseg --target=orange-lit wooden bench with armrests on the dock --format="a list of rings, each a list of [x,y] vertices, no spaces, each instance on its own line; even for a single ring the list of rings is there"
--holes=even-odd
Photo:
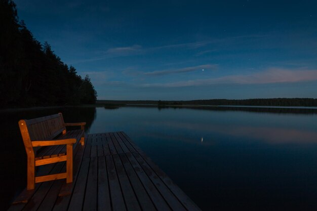
[[[35,183],[65,179],[71,183],[73,148],[84,145],[86,122],[65,123],[61,113],[34,119],[21,119],[19,127],[27,154],[27,190]],[[66,131],[66,126],[81,126],[81,130]],[[66,172],[35,176],[35,166],[66,161]]]

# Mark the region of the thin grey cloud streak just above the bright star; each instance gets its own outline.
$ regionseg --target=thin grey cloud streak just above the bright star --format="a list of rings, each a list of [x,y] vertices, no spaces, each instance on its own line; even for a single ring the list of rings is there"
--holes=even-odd
[[[215,64],[206,64],[206,65],[199,65],[193,67],[184,67],[178,69],[167,69],[167,70],[156,70],[152,72],[145,72],[143,75],[150,75],[150,76],[157,76],[157,75],[167,75],[167,74],[175,74],[175,73],[184,73],[184,72],[193,72],[202,69],[214,70],[217,68]]]

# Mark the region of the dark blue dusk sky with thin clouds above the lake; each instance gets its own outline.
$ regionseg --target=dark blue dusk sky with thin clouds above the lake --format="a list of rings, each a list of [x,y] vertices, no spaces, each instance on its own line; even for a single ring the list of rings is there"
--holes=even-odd
[[[317,98],[317,2],[16,0],[98,99]]]

